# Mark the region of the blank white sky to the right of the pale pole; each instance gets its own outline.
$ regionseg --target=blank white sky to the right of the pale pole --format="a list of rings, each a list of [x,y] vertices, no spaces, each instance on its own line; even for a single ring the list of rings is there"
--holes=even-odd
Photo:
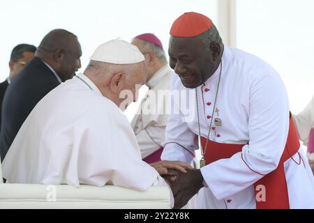
[[[279,72],[292,113],[301,112],[314,93],[313,22],[313,0],[237,1],[237,47]]]

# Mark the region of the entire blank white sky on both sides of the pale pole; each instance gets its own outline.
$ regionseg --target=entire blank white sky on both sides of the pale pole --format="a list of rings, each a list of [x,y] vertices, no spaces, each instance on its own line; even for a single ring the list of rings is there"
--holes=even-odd
[[[0,81],[8,76],[13,47],[20,43],[38,46],[52,29],[68,29],[78,36],[82,71],[94,49],[112,38],[130,41],[137,34],[151,32],[167,50],[170,26],[179,15],[195,11],[215,23],[216,5],[216,0],[0,1]],[[280,72],[294,113],[314,93],[313,9],[313,0],[237,0],[237,47],[260,56]],[[129,119],[136,107],[127,109]]]

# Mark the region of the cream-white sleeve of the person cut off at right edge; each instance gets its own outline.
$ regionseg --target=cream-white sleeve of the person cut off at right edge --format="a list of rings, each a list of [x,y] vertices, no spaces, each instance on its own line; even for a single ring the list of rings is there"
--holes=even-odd
[[[299,114],[294,115],[293,118],[299,134],[299,139],[307,144],[308,136],[314,124],[314,97],[305,109]]]

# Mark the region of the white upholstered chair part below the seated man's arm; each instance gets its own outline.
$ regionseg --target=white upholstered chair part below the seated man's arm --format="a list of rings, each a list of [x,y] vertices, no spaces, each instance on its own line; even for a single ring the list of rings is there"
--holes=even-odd
[[[1,164],[0,164],[0,176]],[[105,185],[35,185],[0,183],[0,209],[8,208],[170,208],[167,187],[146,191]]]

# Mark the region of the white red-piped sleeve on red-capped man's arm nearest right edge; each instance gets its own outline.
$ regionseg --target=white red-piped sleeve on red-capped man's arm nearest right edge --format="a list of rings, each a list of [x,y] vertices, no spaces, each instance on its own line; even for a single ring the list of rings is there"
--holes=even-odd
[[[278,75],[265,75],[250,87],[249,145],[229,159],[201,168],[216,199],[224,199],[253,185],[276,169],[289,128],[285,86]]]

